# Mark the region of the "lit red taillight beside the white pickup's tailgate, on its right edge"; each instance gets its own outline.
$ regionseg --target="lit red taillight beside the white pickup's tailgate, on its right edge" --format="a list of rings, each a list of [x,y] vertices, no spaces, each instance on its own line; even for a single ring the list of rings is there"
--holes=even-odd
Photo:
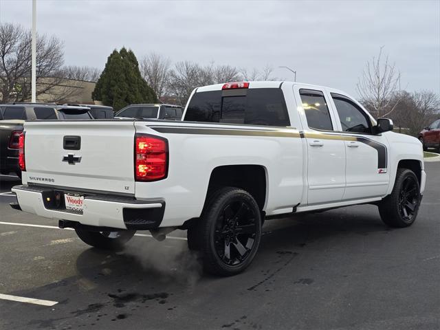
[[[168,142],[160,137],[137,134],[135,137],[135,179],[155,181],[166,178]]]

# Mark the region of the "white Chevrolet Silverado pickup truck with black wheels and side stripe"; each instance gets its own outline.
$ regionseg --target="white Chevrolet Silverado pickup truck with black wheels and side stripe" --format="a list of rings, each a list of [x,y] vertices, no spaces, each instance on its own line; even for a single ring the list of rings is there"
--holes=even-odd
[[[342,91],[289,82],[199,87],[179,122],[25,122],[12,207],[97,248],[187,229],[204,270],[232,275],[264,219],[372,203],[386,225],[411,225],[423,151],[392,129]]]

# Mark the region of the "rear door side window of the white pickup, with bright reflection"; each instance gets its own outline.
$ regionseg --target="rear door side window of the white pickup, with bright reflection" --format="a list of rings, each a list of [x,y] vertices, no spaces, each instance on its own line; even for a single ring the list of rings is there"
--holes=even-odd
[[[300,89],[300,96],[309,128],[333,131],[329,108],[322,91]]]

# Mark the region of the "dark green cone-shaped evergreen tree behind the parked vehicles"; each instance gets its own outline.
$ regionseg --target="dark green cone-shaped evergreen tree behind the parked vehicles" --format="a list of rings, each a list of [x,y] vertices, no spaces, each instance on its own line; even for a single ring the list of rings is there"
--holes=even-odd
[[[131,50],[113,50],[104,71],[91,94],[94,100],[113,107],[115,111],[135,103],[155,103],[157,97],[142,78],[139,64]]]

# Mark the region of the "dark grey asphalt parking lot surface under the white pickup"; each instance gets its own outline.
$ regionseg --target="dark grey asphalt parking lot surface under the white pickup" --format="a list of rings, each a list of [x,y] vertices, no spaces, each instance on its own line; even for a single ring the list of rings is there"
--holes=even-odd
[[[0,329],[440,329],[440,162],[426,172],[412,227],[386,228],[375,206],[267,221],[230,278],[201,274],[185,232],[89,248],[12,210],[19,181],[1,176]]]

